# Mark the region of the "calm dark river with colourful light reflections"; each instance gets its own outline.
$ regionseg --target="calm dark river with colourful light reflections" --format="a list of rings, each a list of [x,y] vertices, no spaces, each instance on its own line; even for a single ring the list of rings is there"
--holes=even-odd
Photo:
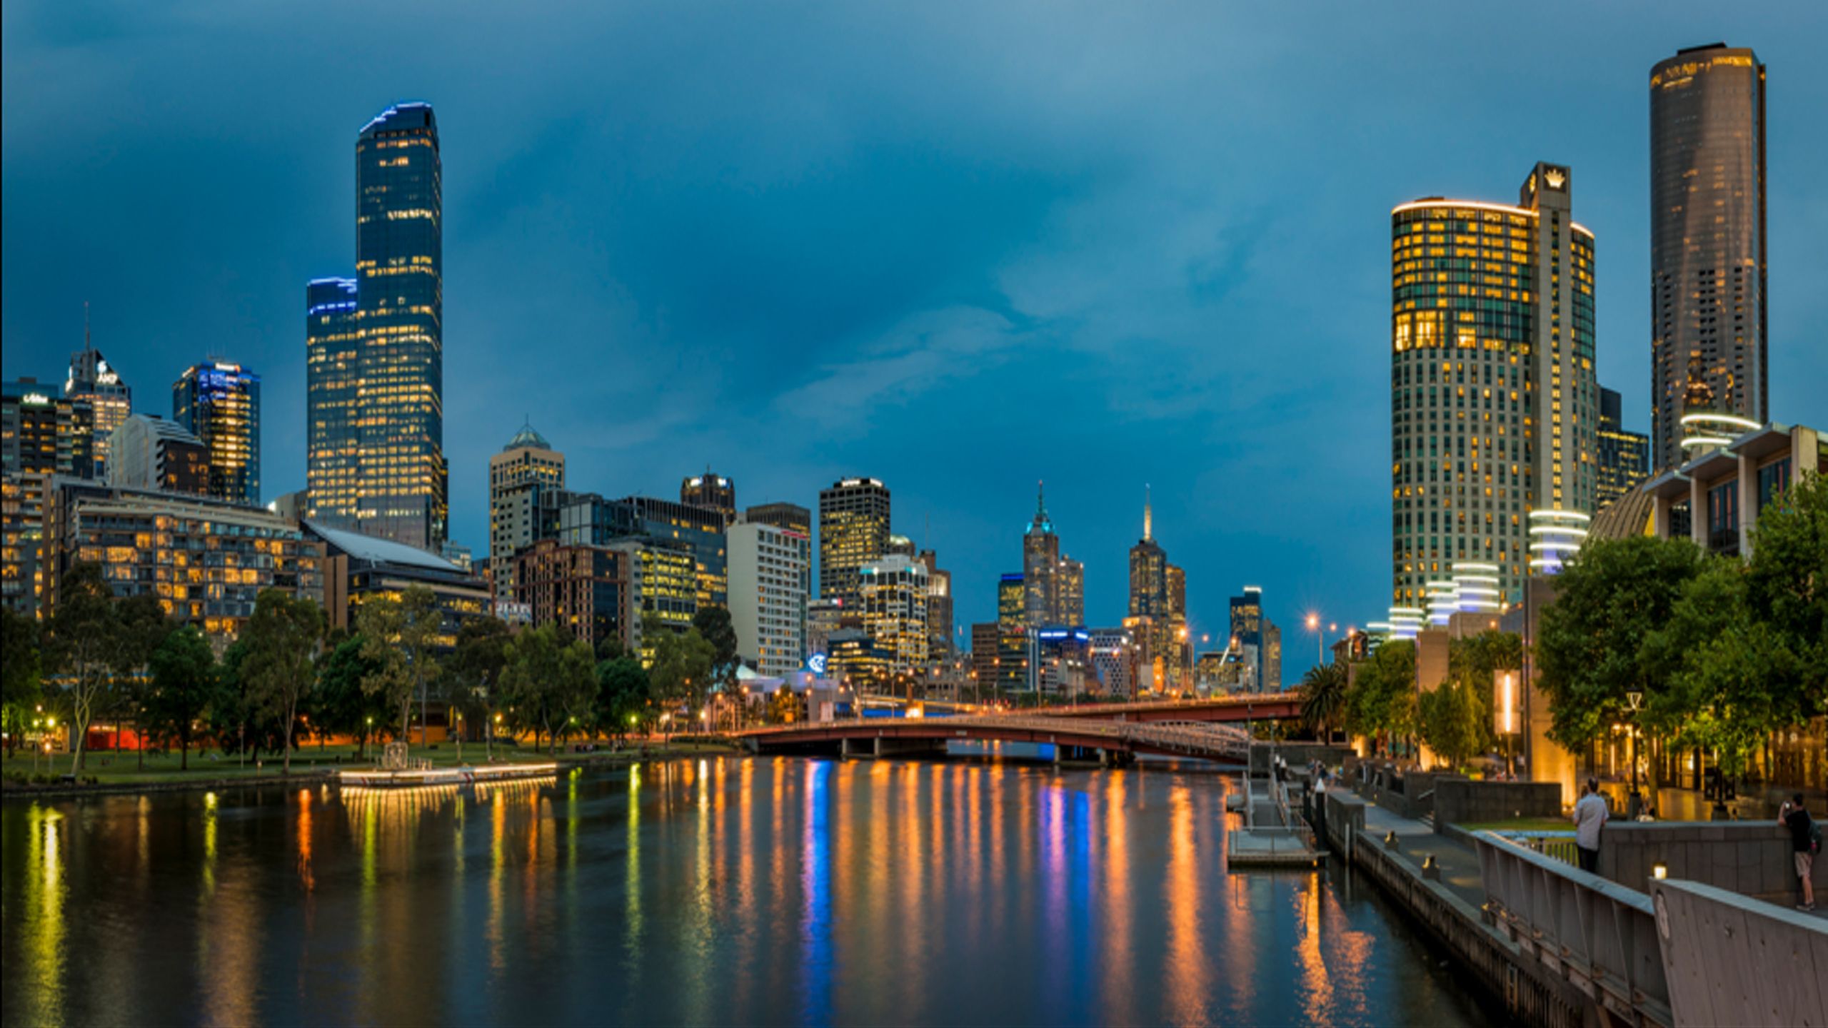
[[[1477,1024],[1174,765],[665,761],[0,805],[5,1024]]]

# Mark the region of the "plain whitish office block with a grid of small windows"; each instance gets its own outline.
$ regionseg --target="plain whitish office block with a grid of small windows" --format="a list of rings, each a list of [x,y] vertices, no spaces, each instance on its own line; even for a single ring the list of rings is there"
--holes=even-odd
[[[762,677],[799,671],[806,659],[812,540],[740,521],[729,527],[729,624],[737,655]]]

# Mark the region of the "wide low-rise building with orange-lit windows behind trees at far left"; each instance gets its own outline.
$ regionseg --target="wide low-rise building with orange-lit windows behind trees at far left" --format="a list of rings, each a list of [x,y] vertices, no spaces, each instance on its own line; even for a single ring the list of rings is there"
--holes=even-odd
[[[172,618],[234,637],[263,589],[324,602],[324,551],[296,521],[205,496],[51,479],[44,510],[44,616],[77,562],[117,596],[152,594]]]

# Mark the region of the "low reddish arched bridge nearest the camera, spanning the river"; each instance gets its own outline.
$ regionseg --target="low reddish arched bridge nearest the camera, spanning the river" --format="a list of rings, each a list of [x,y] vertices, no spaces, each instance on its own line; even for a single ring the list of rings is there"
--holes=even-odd
[[[1197,757],[1243,765],[1250,737],[1206,721],[1115,721],[1040,713],[967,713],[958,717],[877,717],[751,728],[737,737],[755,754],[837,752],[841,755],[940,754],[958,743],[1036,743],[1055,759],[1122,763],[1135,754]]]

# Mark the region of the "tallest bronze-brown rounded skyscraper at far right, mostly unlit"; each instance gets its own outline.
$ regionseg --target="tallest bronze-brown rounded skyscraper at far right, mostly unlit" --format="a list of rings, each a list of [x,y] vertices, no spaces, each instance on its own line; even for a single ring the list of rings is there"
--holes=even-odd
[[[1651,461],[1682,463],[1689,360],[1764,424],[1764,64],[1724,42],[1651,68]]]

